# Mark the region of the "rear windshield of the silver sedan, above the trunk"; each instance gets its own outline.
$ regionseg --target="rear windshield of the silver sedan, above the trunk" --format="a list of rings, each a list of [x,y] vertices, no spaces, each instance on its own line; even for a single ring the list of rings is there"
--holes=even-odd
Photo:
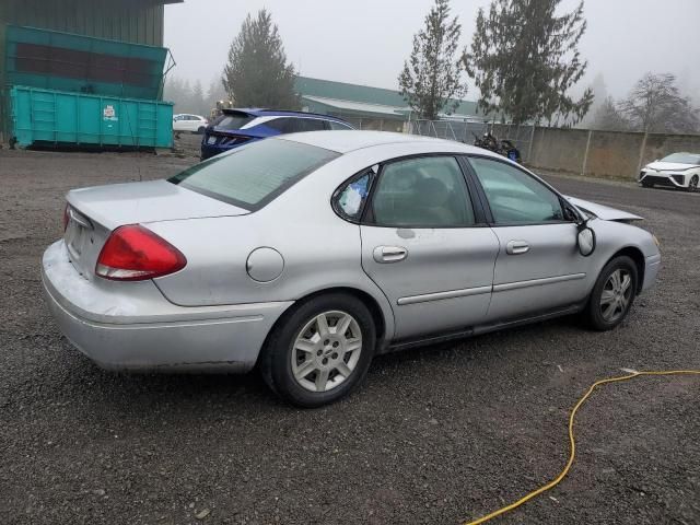
[[[315,145],[267,139],[196,164],[168,182],[254,211],[338,155]]]

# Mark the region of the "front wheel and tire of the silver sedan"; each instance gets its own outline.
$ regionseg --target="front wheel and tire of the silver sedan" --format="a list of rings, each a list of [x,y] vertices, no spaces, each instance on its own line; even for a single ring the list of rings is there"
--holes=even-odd
[[[631,258],[619,256],[605,265],[585,310],[591,328],[611,330],[622,323],[634,302],[637,283],[637,265]]]

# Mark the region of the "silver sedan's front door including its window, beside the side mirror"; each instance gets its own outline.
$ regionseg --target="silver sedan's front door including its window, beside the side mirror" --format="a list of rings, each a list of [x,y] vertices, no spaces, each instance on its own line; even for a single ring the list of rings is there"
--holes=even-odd
[[[504,161],[470,158],[499,238],[489,320],[506,320],[585,300],[592,261],[579,253],[575,217],[560,197]]]

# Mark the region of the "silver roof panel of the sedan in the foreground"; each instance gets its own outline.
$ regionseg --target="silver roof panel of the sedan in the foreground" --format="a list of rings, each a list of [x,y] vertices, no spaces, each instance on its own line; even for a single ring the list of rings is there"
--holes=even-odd
[[[489,154],[489,152],[480,148],[453,140],[435,139],[420,135],[393,133],[389,131],[306,131],[303,133],[280,135],[276,139],[302,142],[338,153],[348,153],[384,144],[423,144],[428,147],[439,145],[444,151]]]

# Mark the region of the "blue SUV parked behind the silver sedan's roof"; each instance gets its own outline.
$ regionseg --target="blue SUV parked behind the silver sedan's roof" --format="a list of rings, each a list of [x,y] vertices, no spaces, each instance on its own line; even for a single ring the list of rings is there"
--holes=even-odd
[[[345,120],[329,115],[275,109],[224,109],[205,130],[201,139],[201,160],[277,135],[348,129],[354,128]]]

